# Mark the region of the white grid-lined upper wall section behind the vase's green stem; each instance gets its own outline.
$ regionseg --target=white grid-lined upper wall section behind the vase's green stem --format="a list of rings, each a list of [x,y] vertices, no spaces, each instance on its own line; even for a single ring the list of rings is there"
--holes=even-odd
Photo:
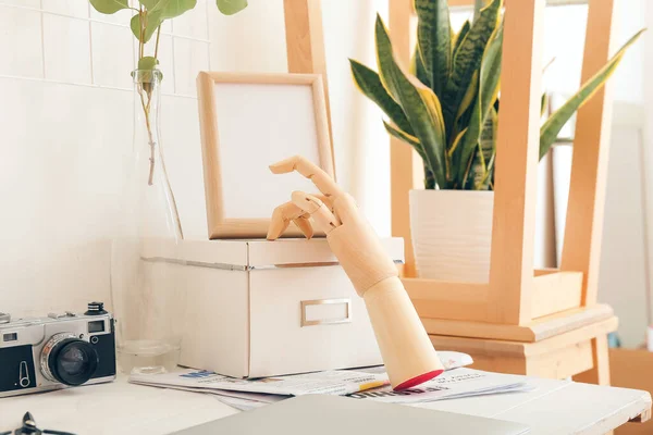
[[[196,72],[210,66],[209,3],[198,0],[163,26],[165,94],[195,98]],[[0,75],[131,89],[137,44],[130,17],[128,10],[100,14],[87,0],[0,0]]]

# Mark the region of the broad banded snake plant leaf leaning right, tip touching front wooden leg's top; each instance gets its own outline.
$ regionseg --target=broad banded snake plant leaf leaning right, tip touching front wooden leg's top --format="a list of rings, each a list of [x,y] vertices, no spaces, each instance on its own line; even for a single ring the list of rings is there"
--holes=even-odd
[[[471,77],[481,66],[485,46],[498,25],[502,4],[503,0],[492,0],[480,11],[478,20],[471,25],[453,59],[452,74],[442,100],[446,125],[453,125]]]

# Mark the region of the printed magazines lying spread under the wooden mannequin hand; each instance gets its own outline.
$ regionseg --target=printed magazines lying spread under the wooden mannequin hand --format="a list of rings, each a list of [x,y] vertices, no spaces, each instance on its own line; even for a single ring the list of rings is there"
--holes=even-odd
[[[482,372],[465,368],[472,362],[465,353],[440,352],[447,371],[418,387],[393,391],[383,366],[333,370],[258,380],[239,380],[213,372],[186,369],[155,375],[132,374],[134,384],[214,395],[239,410],[250,410],[292,396],[330,394],[355,399],[417,405],[434,400],[523,391],[532,389],[523,376]]]

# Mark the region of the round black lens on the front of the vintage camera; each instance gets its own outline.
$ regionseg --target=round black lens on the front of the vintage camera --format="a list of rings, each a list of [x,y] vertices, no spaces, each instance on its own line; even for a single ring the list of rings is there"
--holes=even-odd
[[[57,334],[41,352],[41,371],[50,381],[82,385],[95,374],[98,353],[87,341],[72,334]]]

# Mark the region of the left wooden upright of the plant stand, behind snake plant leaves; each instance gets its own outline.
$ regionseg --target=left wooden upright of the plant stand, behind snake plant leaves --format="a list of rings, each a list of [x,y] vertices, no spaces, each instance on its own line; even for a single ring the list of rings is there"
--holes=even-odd
[[[286,0],[288,1],[288,0]],[[291,0],[292,1],[292,0]],[[407,66],[410,62],[410,3],[411,0],[390,0],[390,34],[397,61]],[[391,225],[394,237],[406,243],[406,262],[402,274],[417,276],[415,254],[410,239],[408,191],[414,186],[414,151],[408,145],[390,139]]]

